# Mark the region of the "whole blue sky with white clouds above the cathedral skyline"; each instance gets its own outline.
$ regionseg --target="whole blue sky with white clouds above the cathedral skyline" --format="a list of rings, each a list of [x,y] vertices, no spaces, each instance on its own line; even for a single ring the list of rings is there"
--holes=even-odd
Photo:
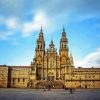
[[[30,65],[41,24],[46,49],[64,25],[75,66],[100,67],[100,0],[0,0],[0,64]]]

